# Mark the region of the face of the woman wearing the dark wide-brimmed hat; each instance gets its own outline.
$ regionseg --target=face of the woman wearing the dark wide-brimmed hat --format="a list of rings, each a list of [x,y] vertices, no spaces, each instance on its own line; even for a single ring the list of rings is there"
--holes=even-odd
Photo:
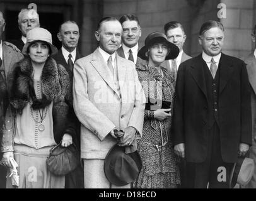
[[[154,43],[148,52],[149,61],[160,64],[165,61],[168,54],[168,46],[165,43]]]

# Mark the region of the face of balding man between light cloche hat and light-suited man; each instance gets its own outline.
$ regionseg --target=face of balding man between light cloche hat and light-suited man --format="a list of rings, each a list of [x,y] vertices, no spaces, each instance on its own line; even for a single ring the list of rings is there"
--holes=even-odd
[[[72,52],[78,46],[79,28],[74,23],[62,24],[61,31],[58,33],[59,41],[62,46],[68,51]]]

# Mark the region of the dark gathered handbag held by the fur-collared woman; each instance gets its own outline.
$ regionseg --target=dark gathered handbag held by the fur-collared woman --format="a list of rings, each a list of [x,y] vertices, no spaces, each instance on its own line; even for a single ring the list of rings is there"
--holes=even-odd
[[[54,175],[67,175],[79,165],[79,151],[74,144],[62,147],[57,144],[50,149],[46,160],[47,168]]]

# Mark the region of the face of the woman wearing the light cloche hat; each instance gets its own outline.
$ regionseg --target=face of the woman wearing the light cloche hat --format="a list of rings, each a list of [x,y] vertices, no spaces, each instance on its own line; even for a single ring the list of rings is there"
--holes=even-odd
[[[29,53],[32,62],[45,63],[49,56],[49,46],[44,42],[35,42],[30,45]]]

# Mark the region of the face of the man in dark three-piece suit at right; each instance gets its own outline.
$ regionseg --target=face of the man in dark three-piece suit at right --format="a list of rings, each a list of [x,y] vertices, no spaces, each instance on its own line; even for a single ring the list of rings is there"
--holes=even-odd
[[[224,33],[218,27],[213,27],[199,36],[199,44],[202,46],[202,50],[211,57],[221,53],[223,41]]]

